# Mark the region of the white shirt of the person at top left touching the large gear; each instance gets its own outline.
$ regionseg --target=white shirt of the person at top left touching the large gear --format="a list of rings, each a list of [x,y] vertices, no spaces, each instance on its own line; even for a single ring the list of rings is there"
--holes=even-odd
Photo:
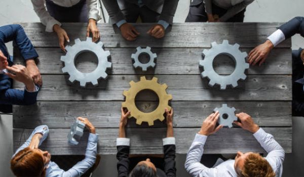
[[[72,7],[80,2],[80,0],[51,0],[58,6],[62,7]],[[47,11],[46,9],[46,1],[45,0],[31,0],[34,11],[36,12],[37,16],[40,18],[42,24],[46,26],[47,32],[53,32],[53,26],[58,24],[61,26],[61,23],[55,20]],[[87,0],[87,6],[89,10],[89,19],[95,19],[98,21],[100,19],[99,11],[97,9],[97,0]]]

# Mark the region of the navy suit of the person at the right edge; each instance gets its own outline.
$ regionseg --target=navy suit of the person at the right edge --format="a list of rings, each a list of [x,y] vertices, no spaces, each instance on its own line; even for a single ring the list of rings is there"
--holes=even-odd
[[[285,38],[294,34],[300,34],[304,37],[304,17],[295,17],[289,20],[280,29]],[[304,66],[300,54],[302,49],[292,51],[292,115],[304,116]],[[299,80],[300,79],[300,80]]]

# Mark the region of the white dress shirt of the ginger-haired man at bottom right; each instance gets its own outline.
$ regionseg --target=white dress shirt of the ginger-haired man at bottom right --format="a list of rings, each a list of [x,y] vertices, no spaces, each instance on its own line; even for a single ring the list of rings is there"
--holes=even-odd
[[[285,151],[275,141],[271,134],[267,134],[262,128],[259,128],[254,138],[260,143],[268,155],[265,159],[272,166],[276,176],[281,177],[283,171],[283,161],[285,158]],[[192,176],[234,176],[237,177],[237,173],[234,168],[235,160],[227,160],[219,165],[208,168],[201,164],[201,157],[204,152],[204,145],[207,140],[207,136],[197,134],[187,154],[185,168]]]

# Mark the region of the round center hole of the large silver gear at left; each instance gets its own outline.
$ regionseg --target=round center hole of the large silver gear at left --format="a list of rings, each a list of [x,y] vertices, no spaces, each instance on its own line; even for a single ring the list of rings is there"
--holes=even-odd
[[[82,73],[93,72],[98,66],[98,58],[94,52],[82,51],[76,55],[74,64],[77,70]]]

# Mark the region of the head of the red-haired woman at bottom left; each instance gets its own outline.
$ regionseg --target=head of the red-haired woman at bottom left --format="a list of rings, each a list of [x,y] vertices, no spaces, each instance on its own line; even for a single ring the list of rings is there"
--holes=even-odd
[[[11,169],[16,176],[44,177],[50,160],[48,151],[27,147],[12,158]]]

